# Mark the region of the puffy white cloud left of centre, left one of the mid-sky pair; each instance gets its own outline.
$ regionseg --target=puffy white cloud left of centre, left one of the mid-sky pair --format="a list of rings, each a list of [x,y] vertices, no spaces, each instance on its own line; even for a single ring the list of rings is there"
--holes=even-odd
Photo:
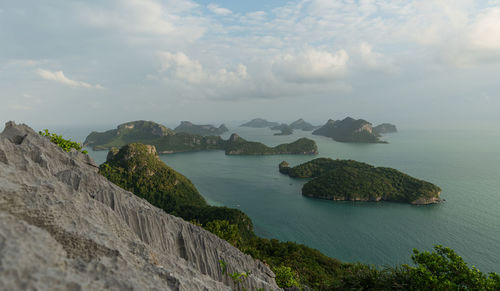
[[[215,72],[207,72],[198,60],[189,58],[183,52],[159,52],[158,57],[161,62],[160,72],[169,73],[178,80],[192,84],[226,84],[248,77],[247,68],[242,64],[239,64],[235,70],[222,68]]]

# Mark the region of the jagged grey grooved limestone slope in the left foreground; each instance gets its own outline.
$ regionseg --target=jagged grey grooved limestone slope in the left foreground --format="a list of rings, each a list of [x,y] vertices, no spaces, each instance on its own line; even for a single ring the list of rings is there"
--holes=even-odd
[[[242,285],[222,274],[250,271]],[[0,289],[280,290],[274,274],[26,125],[0,134]]]

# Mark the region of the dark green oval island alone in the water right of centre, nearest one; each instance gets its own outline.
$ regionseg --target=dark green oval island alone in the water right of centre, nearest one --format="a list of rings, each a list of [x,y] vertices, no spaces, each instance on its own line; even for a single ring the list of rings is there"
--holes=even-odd
[[[374,167],[353,160],[318,158],[290,167],[283,161],[279,171],[294,178],[313,178],[302,195],[337,201],[394,201],[414,205],[440,202],[441,189],[398,170]]]

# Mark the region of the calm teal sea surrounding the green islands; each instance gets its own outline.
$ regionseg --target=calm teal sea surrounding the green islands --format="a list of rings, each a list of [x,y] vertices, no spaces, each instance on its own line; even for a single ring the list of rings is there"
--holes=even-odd
[[[83,135],[65,130],[83,140]],[[278,164],[312,156],[226,156],[222,151],[163,155],[214,205],[236,207],[253,220],[258,235],[317,248],[343,261],[410,263],[413,248],[434,244],[455,249],[471,265],[500,272],[500,133],[401,131],[389,144],[345,144],[297,132],[273,136],[268,129],[235,128],[248,140],[268,145],[307,136],[318,157],[354,159],[393,167],[443,189],[446,202],[431,206],[332,202],[305,198],[304,180],[278,172]],[[225,136],[227,138],[227,135]],[[90,152],[101,163],[106,152]]]

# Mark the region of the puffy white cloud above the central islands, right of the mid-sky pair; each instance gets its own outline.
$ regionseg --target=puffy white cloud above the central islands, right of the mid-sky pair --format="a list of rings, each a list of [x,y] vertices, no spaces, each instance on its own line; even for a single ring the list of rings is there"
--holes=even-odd
[[[345,50],[330,53],[311,48],[301,54],[276,57],[272,70],[276,77],[286,82],[326,83],[344,75],[348,60]]]

